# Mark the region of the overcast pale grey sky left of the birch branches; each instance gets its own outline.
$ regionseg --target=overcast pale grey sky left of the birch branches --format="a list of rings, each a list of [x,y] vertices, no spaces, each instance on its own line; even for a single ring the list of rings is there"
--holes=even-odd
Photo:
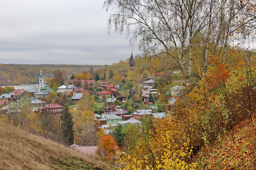
[[[112,64],[139,53],[126,34],[108,34],[104,0],[4,0],[0,63]]]

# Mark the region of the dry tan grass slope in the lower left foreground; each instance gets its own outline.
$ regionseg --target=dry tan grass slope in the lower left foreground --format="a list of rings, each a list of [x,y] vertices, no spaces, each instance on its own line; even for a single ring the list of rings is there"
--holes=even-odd
[[[0,170],[111,170],[61,144],[0,122]]]

